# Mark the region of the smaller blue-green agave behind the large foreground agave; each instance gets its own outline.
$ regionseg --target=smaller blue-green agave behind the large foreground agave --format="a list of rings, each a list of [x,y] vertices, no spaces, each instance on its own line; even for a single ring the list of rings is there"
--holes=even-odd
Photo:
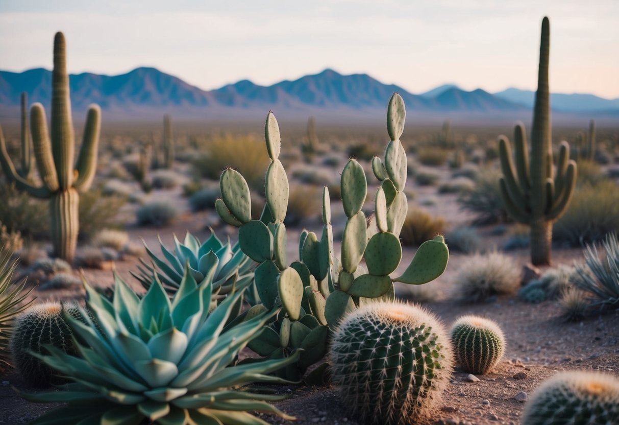
[[[230,240],[223,243],[213,229],[210,229],[210,237],[204,243],[201,243],[197,237],[187,232],[183,243],[174,237],[174,250],[168,249],[161,239],[159,245],[163,258],[159,258],[153,253],[144,243],[146,252],[153,261],[149,265],[146,261],[140,259],[142,266],[138,266],[140,273],[131,273],[137,278],[145,289],[149,289],[152,284],[152,276],[157,275],[166,291],[174,294],[178,291],[183,279],[183,269],[188,263],[189,272],[197,283],[202,283],[207,276],[212,276],[212,297],[214,300],[222,300],[233,289],[233,281],[236,272],[235,286],[237,288],[245,288],[253,283],[254,272],[251,269],[252,261],[241,252],[238,243],[232,245]],[[212,259],[215,258],[210,253],[214,253],[217,258],[217,265],[214,265]],[[212,271],[214,270],[214,274]],[[251,288],[250,288],[251,289]],[[251,293],[251,291],[249,291]],[[257,299],[257,297],[256,297]]]

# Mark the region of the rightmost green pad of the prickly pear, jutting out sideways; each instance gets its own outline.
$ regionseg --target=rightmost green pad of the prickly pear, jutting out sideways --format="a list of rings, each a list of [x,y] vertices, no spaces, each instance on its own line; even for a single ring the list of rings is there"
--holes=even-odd
[[[426,240],[415,253],[413,261],[396,282],[420,285],[441,276],[447,267],[449,249],[442,236]]]

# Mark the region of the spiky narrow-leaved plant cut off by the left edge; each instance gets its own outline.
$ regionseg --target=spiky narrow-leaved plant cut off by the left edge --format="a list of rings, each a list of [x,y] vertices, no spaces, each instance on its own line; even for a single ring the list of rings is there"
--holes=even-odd
[[[15,317],[23,312],[34,299],[24,302],[34,287],[24,290],[25,279],[13,283],[17,261],[11,261],[11,252],[0,249],[0,370],[10,366],[9,341],[14,330]]]

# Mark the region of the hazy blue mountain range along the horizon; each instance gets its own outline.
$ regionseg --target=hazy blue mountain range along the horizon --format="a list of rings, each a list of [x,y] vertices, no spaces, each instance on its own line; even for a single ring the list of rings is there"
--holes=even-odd
[[[181,119],[253,118],[267,110],[288,118],[333,117],[336,113],[340,117],[364,119],[376,116],[377,110],[384,112],[393,92],[402,95],[407,110],[423,116],[509,116],[515,120],[530,115],[534,97],[534,92],[526,90],[508,89],[491,94],[482,89],[462,90],[453,84],[415,95],[367,74],[342,75],[332,69],[268,87],[243,80],[215,90],[201,90],[155,68],[136,68],[116,76],[76,74],[69,76],[69,84],[76,113],[97,103],[106,117],[115,120],[158,119],[163,113]],[[19,116],[21,92],[27,92],[30,103],[49,105],[51,71],[0,71],[0,118]],[[557,111],[587,118],[595,114],[619,116],[619,99],[553,94],[551,102]]]

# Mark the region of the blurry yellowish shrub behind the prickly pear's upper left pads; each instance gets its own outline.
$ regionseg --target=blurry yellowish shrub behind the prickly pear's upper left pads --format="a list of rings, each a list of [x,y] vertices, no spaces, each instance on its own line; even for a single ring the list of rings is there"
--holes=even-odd
[[[219,180],[224,169],[231,167],[240,172],[248,185],[264,190],[264,169],[269,157],[264,151],[264,141],[252,136],[221,136],[208,142],[204,154],[193,161],[197,175]]]

